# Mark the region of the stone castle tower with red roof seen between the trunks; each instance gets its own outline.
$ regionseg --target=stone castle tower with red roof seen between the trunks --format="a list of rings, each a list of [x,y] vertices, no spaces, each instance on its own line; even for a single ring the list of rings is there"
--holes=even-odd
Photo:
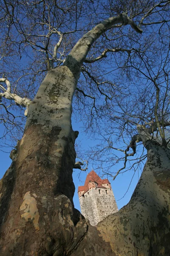
[[[94,171],[87,175],[84,186],[78,187],[78,195],[82,215],[92,226],[118,211],[111,183],[108,179],[102,180]]]

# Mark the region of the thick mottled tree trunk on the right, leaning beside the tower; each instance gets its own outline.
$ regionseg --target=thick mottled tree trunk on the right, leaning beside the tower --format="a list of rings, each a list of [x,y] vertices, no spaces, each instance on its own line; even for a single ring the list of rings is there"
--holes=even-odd
[[[170,150],[146,142],[147,163],[130,202],[97,229],[116,255],[170,253]]]

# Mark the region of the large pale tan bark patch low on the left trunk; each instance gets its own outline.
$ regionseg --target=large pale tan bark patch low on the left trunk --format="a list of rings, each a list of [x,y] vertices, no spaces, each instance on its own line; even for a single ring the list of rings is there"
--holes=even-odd
[[[40,230],[40,227],[38,224],[40,215],[37,209],[36,199],[30,195],[30,191],[26,192],[23,199],[24,201],[20,206],[20,211],[24,211],[24,213],[21,214],[21,218],[24,218],[25,221],[33,221],[35,230],[36,231]]]

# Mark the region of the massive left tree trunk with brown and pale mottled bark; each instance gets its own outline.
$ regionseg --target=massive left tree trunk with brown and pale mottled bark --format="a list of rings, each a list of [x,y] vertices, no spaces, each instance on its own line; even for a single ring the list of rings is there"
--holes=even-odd
[[[2,256],[74,255],[85,235],[92,244],[88,229],[96,234],[96,255],[107,244],[73,204],[78,132],[71,128],[71,101],[78,78],[66,66],[51,70],[29,107],[23,138],[1,180]]]

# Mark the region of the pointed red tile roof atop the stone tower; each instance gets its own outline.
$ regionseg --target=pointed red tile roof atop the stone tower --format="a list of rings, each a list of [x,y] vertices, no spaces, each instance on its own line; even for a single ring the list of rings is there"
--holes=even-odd
[[[88,173],[86,179],[85,179],[85,185],[84,186],[79,186],[78,187],[78,192],[80,191],[83,191],[84,190],[84,193],[86,193],[88,190],[89,190],[89,187],[88,187],[88,183],[89,182],[96,182],[98,185],[97,185],[97,188],[105,188],[104,186],[102,186],[102,184],[111,184],[108,179],[101,179],[97,174],[96,172],[94,172],[94,170],[92,170],[91,172]],[[84,194],[83,193],[83,194]],[[83,195],[82,194],[82,195]]]

